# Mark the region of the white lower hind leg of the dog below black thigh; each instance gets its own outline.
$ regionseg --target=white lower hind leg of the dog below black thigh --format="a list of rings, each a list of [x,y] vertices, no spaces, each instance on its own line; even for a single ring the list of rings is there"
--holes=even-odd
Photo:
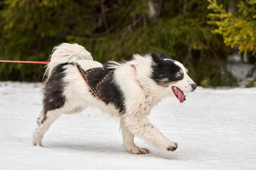
[[[33,144],[34,146],[43,146],[42,139],[45,132],[49,129],[52,123],[62,114],[63,109],[58,108],[47,111],[46,114],[42,111],[37,119],[38,127],[33,133]]]

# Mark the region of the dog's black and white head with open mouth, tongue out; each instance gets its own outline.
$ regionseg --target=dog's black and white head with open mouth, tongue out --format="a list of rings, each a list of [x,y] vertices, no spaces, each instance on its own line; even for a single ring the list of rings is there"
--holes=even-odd
[[[195,91],[197,85],[188,75],[186,67],[172,60],[166,53],[160,56],[151,53],[152,57],[152,79],[162,88],[171,91],[180,103],[186,100],[184,92]]]

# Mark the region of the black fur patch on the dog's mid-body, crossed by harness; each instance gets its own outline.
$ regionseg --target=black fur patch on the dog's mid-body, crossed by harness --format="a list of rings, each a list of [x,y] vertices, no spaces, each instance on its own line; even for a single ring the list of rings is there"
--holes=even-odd
[[[102,68],[94,68],[87,76],[87,82],[90,85],[97,86],[99,82],[108,74],[108,76],[98,86],[98,91],[106,104],[113,104],[119,114],[124,114],[124,94],[117,84],[114,83],[115,69],[109,68],[110,63],[105,63]],[[113,63],[111,63],[113,65]],[[90,90],[89,90],[90,91]],[[90,91],[92,93],[92,91]],[[93,93],[92,95],[96,97]]]

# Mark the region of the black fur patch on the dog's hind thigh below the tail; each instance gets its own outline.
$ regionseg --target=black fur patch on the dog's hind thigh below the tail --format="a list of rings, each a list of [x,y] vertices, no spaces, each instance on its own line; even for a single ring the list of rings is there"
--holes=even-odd
[[[54,110],[57,108],[61,108],[65,104],[65,96],[63,95],[63,90],[65,87],[65,83],[63,82],[63,78],[65,77],[65,68],[63,66],[68,63],[60,64],[54,68],[54,71],[47,79],[43,87],[43,110],[44,110],[44,118],[43,121],[47,119],[46,113],[49,110]]]

